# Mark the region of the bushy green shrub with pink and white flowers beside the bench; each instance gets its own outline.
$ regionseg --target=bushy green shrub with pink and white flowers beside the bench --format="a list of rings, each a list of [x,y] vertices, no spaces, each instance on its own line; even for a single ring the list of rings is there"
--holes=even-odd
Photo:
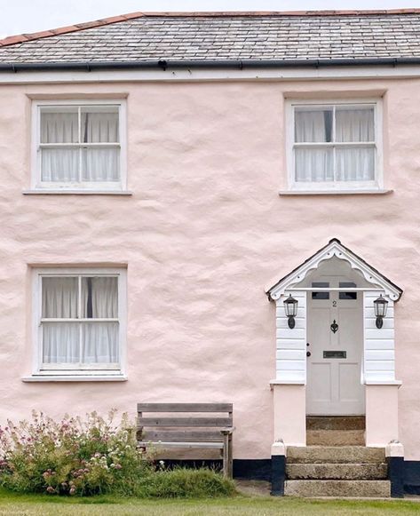
[[[152,461],[137,446],[124,415],[115,424],[92,412],[59,423],[33,412],[32,421],[0,427],[0,483],[21,492],[89,496],[134,494],[152,474]]]

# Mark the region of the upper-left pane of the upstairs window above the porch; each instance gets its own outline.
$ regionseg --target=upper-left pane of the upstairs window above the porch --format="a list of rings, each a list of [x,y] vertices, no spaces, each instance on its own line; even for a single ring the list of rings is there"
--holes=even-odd
[[[295,109],[295,141],[327,142],[332,135],[331,109]]]

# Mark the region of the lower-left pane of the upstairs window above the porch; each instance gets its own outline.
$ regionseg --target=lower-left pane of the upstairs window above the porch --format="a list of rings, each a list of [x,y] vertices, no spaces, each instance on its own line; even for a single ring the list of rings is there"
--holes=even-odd
[[[332,181],[332,148],[296,148],[295,173],[297,181]]]

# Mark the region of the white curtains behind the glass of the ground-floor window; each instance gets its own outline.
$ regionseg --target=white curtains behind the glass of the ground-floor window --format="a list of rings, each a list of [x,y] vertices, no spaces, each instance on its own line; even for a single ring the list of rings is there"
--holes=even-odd
[[[78,278],[43,278],[43,318],[75,322],[43,322],[44,363],[116,363],[118,322],[93,322],[118,317],[118,280],[82,278],[81,318],[77,322]]]

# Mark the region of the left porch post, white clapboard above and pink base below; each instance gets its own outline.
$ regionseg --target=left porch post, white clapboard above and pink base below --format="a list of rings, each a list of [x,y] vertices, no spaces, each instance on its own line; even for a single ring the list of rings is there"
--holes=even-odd
[[[289,329],[283,301],[297,299],[296,326]],[[288,290],[276,299],[276,377],[273,389],[273,441],[306,445],[306,293]]]

